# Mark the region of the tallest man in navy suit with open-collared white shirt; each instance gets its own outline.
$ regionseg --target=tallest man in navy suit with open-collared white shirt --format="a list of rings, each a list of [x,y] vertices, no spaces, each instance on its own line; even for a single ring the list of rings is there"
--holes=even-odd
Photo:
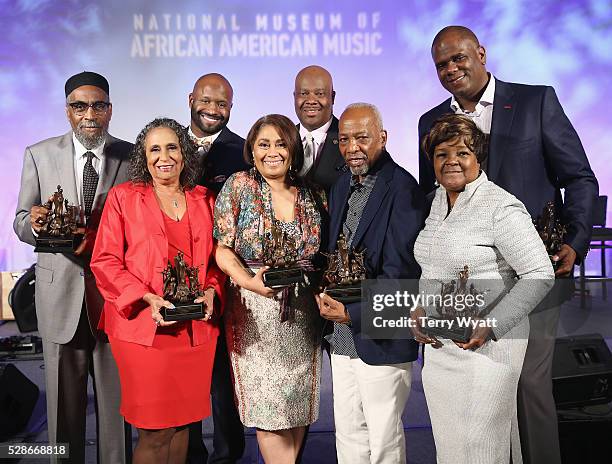
[[[548,201],[555,203],[567,227],[565,244],[553,257],[558,262],[556,275],[570,274],[588,251],[598,185],[554,89],[495,79],[486,70],[484,47],[462,26],[438,32],[431,52],[440,83],[452,97],[421,116],[419,140],[444,113],[472,118],[489,134],[489,154],[482,166],[489,179],[521,200],[534,218]],[[425,193],[434,189],[434,181],[432,165],[421,149],[419,183]],[[558,308],[530,315],[532,336],[518,392],[526,463],[561,462],[551,376],[558,317]]]

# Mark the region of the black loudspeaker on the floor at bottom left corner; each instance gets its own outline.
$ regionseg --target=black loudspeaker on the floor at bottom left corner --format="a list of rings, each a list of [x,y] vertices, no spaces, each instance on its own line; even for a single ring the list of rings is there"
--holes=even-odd
[[[0,441],[25,428],[39,393],[14,364],[0,364]]]

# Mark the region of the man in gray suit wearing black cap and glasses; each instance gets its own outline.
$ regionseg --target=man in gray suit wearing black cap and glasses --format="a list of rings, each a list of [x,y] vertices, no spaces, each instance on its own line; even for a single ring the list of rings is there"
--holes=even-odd
[[[107,132],[112,105],[103,76],[76,74],[66,81],[65,91],[72,130],[26,148],[13,228],[20,240],[34,245],[48,213],[40,205],[58,185],[66,200],[81,207],[85,238],[75,253],[39,253],[36,263],[49,442],[68,443],[69,462],[85,462],[89,373],[98,416],[99,462],[124,463],[119,376],[108,340],[97,329],[103,301],[89,259],[106,194],[128,179],[132,144]]]

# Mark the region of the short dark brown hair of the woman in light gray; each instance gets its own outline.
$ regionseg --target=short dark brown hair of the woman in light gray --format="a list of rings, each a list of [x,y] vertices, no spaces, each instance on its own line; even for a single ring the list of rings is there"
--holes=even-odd
[[[465,145],[476,155],[479,163],[487,157],[487,136],[467,116],[461,114],[445,114],[433,123],[429,133],[423,137],[423,151],[433,161],[436,147],[456,137],[463,138]]]

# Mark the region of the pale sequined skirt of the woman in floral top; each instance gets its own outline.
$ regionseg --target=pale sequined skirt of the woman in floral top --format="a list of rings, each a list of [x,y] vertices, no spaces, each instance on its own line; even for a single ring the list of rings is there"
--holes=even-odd
[[[295,319],[279,301],[228,286],[225,330],[238,411],[247,427],[282,430],[319,416],[322,320],[312,291],[293,290]]]

